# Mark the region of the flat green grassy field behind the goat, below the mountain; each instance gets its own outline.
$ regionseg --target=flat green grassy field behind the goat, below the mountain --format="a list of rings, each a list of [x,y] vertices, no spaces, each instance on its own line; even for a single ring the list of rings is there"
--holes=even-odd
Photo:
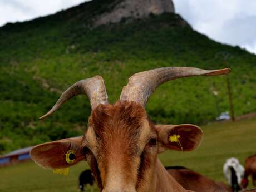
[[[256,119],[217,122],[202,128],[204,141],[198,150],[165,152],[159,155],[164,165],[183,165],[211,179],[225,181],[222,173],[225,159],[234,156],[243,163],[245,157],[256,152]],[[73,166],[68,176],[53,174],[51,170],[44,170],[31,161],[0,168],[0,191],[77,191],[78,175],[86,168],[87,163],[82,162]],[[97,191],[96,186],[93,190]]]

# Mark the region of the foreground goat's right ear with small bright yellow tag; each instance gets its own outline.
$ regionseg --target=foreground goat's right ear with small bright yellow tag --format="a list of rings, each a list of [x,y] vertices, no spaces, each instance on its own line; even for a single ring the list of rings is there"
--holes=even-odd
[[[192,151],[203,139],[203,131],[196,125],[156,125],[156,131],[159,139],[159,153],[167,149]]]

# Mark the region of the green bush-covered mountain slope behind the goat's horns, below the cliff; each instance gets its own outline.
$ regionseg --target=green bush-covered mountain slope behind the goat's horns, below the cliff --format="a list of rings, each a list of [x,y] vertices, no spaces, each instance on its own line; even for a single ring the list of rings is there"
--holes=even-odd
[[[256,110],[255,55],[194,31],[174,8],[97,24],[118,8],[114,2],[125,1],[93,0],[0,28],[0,153],[82,134],[91,112],[85,96],[68,101],[45,121],[38,117],[66,88],[94,75],[104,78],[115,102],[139,71],[230,67],[235,115]],[[146,110],[159,124],[206,124],[229,109],[226,82],[227,76],[204,76],[165,83]]]

